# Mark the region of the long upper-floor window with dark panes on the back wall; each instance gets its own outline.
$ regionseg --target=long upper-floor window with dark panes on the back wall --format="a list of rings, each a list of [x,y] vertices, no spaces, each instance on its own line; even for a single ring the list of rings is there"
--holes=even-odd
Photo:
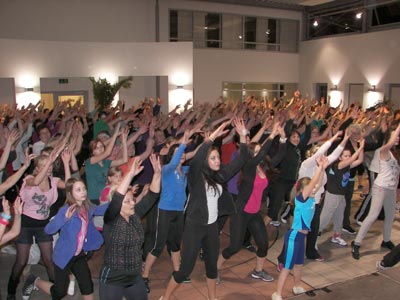
[[[298,52],[299,22],[209,12],[170,11],[170,41],[195,48]]]

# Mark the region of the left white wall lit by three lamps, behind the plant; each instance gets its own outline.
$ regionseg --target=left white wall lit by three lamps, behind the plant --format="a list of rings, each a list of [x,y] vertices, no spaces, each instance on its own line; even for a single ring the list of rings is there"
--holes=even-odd
[[[14,77],[17,92],[25,87],[33,87],[36,92],[42,77],[168,76],[168,84],[176,87],[193,83],[193,46],[190,42],[75,43],[0,39],[0,66],[0,78]],[[167,106],[175,105],[168,103]],[[91,108],[93,99],[89,99]]]

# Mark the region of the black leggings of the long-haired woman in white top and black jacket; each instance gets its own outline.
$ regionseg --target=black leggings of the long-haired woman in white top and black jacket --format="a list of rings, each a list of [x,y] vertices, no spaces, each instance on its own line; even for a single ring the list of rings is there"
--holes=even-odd
[[[177,283],[182,283],[192,273],[200,248],[204,251],[207,278],[216,279],[219,252],[218,224],[214,222],[204,225],[186,219],[182,239],[181,265],[179,271],[172,273]]]

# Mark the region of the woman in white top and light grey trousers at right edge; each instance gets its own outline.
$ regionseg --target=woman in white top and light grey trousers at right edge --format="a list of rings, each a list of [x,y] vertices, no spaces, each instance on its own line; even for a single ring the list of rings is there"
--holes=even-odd
[[[396,211],[396,189],[399,182],[400,167],[390,149],[399,144],[400,124],[392,131],[389,140],[381,148],[377,149],[372,159],[370,170],[378,173],[372,187],[371,208],[364,220],[356,239],[351,243],[351,254],[354,259],[360,259],[361,242],[367,234],[372,223],[378,218],[382,209],[385,210],[383,226],[383,241],[381,247],[393,249],[394,244],[390,240],[394,214]]]

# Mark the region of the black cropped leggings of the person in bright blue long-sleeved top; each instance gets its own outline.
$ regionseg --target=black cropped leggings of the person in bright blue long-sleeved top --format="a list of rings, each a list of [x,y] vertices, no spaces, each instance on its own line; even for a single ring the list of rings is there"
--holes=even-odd
[[[156,241],[151,254],[159,257],[165,244],[172,252],[180,250],[183,233],[183,211],[158,209]]]

